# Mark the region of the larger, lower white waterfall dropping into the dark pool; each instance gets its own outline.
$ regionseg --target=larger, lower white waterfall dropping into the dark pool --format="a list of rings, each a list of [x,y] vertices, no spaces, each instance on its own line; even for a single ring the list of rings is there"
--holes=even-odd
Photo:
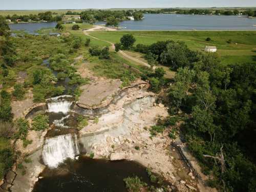
[[[77,136],[59,135],[46,139],[42,149],[42,160],[49,167],[55,168],[67,158],[74,159],[78,154]]]

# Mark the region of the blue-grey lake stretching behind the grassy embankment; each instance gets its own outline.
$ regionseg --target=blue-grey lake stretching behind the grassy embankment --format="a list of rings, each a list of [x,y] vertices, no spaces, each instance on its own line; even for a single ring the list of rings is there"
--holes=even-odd
[[[145,19],[120,22],[122,30],[256,30],[256,19],[223,15],[144,14]],[[97,22],[96,25],[104,25]],[[254,27],[255,25],[255,27]],[[33,33],[41,28],[55,27],[56,22],[10,24],[11,30]]]

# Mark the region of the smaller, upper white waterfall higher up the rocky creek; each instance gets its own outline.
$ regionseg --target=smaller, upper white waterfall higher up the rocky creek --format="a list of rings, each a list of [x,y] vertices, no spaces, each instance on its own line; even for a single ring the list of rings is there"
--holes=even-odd
[[[61,95],[58,97],[54,97],[48,99],[48,112],[53,113],[68,113],[70,111],[70,107],[72,105],[72,101],[68,101],[65,97],[72,97],[70,95]]]

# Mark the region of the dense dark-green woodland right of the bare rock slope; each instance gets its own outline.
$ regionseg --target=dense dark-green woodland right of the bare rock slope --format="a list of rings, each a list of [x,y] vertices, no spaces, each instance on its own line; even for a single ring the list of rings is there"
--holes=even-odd
[[[183,121],[180,129],[203,171],[216,176],[208,184],[226,191],[255,191],[256,66],[223,65],[216,53],[191,51],[181,41],[132,47],[136,39],[124,37],[129,46],[121,39],[119,49],[134,49],[146,54],[152,65],[161,63],[177,71],[166,104],[170,115]],[[159,68],[144,76],[153,91],[165,87],[164,73]],[[164,125],[154,126],[153,135]]]

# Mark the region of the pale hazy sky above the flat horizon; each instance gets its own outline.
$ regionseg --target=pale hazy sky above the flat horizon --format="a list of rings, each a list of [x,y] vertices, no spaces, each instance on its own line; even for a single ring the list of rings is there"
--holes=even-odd
[[[256,7],[256,0],[0,0],[0,10]]]

